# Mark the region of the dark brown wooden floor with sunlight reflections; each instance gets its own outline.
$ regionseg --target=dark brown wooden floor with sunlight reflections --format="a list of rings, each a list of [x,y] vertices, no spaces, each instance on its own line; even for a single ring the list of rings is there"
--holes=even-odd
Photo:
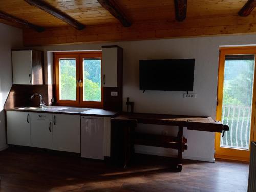
[[[102,161],[9,148],[0,152],[0,191],[247,191],[248,164],[185,160],[182,172],[166,159],[137,155],[125,169]]]

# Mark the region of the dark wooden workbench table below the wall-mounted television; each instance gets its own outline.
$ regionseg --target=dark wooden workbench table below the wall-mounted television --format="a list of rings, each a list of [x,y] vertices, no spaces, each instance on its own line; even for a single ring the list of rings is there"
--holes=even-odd
[[[138,123],[178,126],[178,133],[177,136],[136,133]],[[181,171],[182,152],[187,150],[183,127],[189,130],[220,133],[229,130],[228,125],[214,121],[211,117],[123,113],[111,119],[111,161],[125,167],[134,153],[134,144],[173,148],[178,150],[178,156],[172,159],[172,168]]]

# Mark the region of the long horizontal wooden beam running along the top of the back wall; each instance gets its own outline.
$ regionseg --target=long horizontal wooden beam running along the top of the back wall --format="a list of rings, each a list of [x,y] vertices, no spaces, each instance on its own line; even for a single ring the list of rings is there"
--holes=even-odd
[[[239,15],[220,16],[212,19],[187,18],[185,22],[136,22],[133,27],[121,24],[90,25],[87,30],[77,31],[72,27],[47,28],[42,33],[24,29],[24,46],[55,44],[80,44],[88,42],[117,42],[162,38],[182,38],[195,36],[219,36],[256,34],[256,20],[248,23]]]

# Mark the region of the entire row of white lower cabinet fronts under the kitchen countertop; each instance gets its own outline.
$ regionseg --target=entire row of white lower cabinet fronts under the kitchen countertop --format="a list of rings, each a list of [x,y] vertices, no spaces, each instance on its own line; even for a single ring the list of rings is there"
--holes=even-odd
[[[110,117],[7,111],[8,144],[110,156]]]

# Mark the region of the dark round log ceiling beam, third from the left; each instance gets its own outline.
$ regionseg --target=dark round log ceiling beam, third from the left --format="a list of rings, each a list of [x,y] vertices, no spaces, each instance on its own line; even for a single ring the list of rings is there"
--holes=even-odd
[[[114,0],[98,0],[100,5],[110,12],[124,27],[130,27],[131,21],[125,16]]]

